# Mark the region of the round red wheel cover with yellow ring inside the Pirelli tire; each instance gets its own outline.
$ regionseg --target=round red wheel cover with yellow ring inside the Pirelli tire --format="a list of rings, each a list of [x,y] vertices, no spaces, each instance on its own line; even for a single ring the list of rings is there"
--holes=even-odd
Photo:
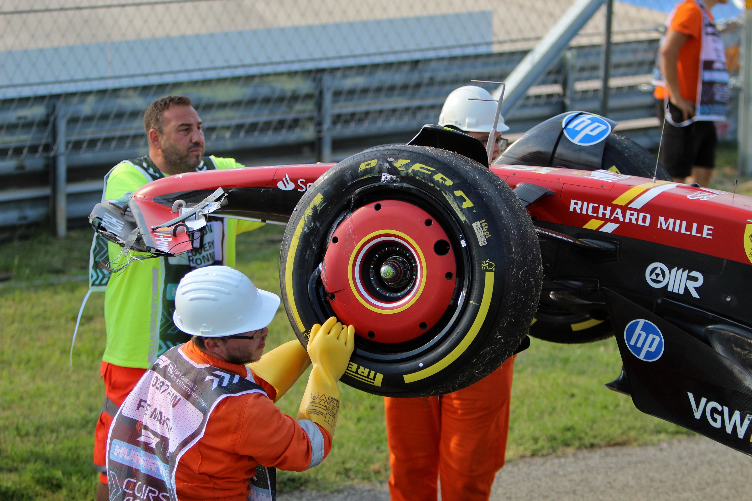
[[[335,314],[357,335],[404,343],[430,330],[450,306],[456,261],[446,232],[429,213],[385,200],[341,222],[321,279]]]

